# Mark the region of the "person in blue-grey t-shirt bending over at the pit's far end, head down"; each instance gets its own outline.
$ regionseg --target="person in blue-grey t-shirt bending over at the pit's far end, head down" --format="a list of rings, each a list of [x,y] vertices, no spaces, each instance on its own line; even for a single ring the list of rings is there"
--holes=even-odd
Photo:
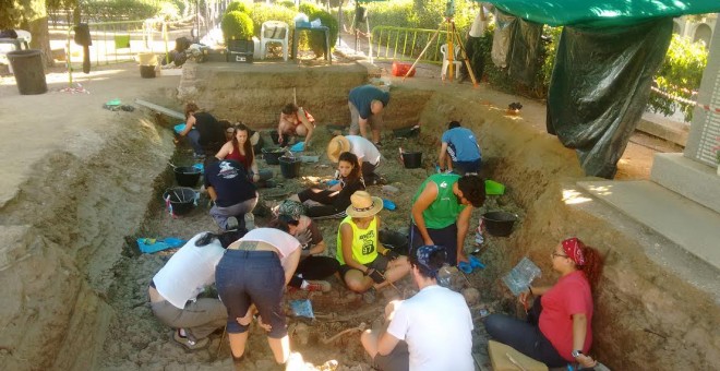
[[[368,137],[368,127],[372,130],[372,142],[380,145],[380,130],[383,129],[383,109],[389,103],[389,93],[373,85],[362,85],[350,91],[350,134],[360,133]]]

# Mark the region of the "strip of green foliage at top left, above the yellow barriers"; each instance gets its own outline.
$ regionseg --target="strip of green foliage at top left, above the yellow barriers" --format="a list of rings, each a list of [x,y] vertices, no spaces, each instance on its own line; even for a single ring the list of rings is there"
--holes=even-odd
[[[80,8],[88,21],[140,21],[155,16],[160,3],[154,0],[81,0]]]

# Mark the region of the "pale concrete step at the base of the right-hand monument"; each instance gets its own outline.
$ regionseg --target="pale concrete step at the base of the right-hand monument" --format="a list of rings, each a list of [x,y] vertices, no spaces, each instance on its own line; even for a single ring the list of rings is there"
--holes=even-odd
[[[651,181],[580,181],[577,184],[720,270],[720,214]]]

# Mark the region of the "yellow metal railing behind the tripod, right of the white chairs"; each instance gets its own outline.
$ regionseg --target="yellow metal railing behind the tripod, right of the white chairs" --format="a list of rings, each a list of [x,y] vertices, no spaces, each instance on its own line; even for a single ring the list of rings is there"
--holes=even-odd
[[[374,58],[389,60],[416,60],[437,29],[375,26],[371,44],[376,50]],[[422,56],[421,62],[441,64],[440,47],[447,43],[447,32],[440,31],[437,37]]]

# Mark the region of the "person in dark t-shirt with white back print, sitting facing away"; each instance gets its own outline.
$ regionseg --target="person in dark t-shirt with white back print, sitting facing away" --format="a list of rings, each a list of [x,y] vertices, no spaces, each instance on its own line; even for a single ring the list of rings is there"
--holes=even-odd
[[[208,157],[204,178],[205,189],[215,203],[209,211],[215,223],[220,229],[233,229],[228,218],[235,217],[238,227],[244,229],[244,215],[255,208],[259,194],[242,165],[233,159]]]

